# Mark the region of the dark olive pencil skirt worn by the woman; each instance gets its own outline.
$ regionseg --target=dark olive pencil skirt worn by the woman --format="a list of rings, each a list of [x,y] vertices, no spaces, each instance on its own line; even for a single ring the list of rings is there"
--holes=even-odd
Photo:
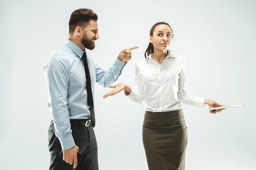
[[[142,138],[149,170],[184,170],[187,128],[182,109],[144,115]]]

